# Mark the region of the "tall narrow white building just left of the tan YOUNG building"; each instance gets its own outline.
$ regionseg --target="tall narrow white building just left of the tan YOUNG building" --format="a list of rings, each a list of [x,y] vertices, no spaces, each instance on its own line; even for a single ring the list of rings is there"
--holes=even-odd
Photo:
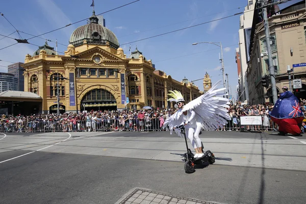
[[[239,54],[241,59],[241,72],[238,75],[238,92],[242,93],[239,100],[247,100],[248,98],[248,86],[247,80],[245,80],[245,72],[247,69],[247,65],[249,62],[249,42],[250,42],[250,33],[252,28],[252,21],[253,21],[253,13],[254,13],[254,6],[256,1],[255,0],[247,0],[247,6],[244,8],[243,14],[240,16],[240,25],[239,25]],[[237,51],[236,51],[237,53]],[[238,63],[237,63],[238,66]],[[239,97],[238,96],[238,97]]]

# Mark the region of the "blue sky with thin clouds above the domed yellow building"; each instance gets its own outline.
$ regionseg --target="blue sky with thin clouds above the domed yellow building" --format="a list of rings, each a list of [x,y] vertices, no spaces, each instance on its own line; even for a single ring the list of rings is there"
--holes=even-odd
[[[95,0],[95,13],[100,14],[135,0]],[[20,31],[22,39],[64,27],[92,15],[92,0],[10,0],[3,1],[0,12]],[[238,71],[235,48],[238,47],[239,16],[205,23],[190,29],[162,35],[138,42],[151,36],[190,27],[243,12],[247,0],[140,0],[129,6],[103,14],[106,27],[117,36],[124,54],[130,55],[136,46],[146,59],[152,60],[156,69],[165,71],[177,81],[185,77],[189,81],[204,78],[206,72],[212,83],[222,80],[220,47],[195,42],[221,42],[223,46],[224,70],[228,74],[230,93],[236,98]],[[240,8],[240,9],[239,9]],[[30,43],[42,46],[45,39],[58,40],[58,51],[64,52],[72,32],[86,24],[86,20],[58,31],[33,38]],[[16,31],[0,16],[0,34],[9,35]],[[22,33],[24,32],[24,33]],[[28,34],[25,34],[28,33]],[[19,38],[17,33],[10,35]],[[16,41],[0,36],[0,49]],[[130,43],[133,42],[133,43]],[[63,45],[61,45],[61,44]],[[55,47],[55,42],[48,42]],[[125,44],[125,45],[122,45]],[[38,46],[16,44],[0,50],[0,72],[7,72],[10,62],[24,62],[25,55],[33,55]],[[9,61],[9,62],[4,62]],[[202,80],[194,82],[203,90]],[[223,84],[219,86],[221,88]]]

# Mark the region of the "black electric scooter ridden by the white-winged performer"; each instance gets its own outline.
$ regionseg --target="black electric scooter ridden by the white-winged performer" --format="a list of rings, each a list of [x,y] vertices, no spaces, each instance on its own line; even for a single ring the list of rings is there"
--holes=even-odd
[[[207,150],[201,158],[194,158],[194,154],[191,152],[190,148],[188,148],[184,124],[181,124],[180,126],[175,126],[175,128],[179,129],[185,137],[187,152],[185,153],[184,168],[185,168],[186,173],[195,172],[195,168],[194,168],[195,165],[200,165],[205,162],[209,162],[210,164],[215,163],[215,155],[210,150]],[[203,143],[201,142],[201,144],[202,144],[202,152],[204,153]]]

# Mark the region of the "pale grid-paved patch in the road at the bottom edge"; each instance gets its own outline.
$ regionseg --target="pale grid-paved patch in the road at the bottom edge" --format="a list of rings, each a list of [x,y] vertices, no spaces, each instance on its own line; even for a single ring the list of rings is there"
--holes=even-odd
[[[145,189],[135,189],[118,204],[154,203],[154,204],[217,204],[219,202],[201,201],[192,198],[178,197]]]

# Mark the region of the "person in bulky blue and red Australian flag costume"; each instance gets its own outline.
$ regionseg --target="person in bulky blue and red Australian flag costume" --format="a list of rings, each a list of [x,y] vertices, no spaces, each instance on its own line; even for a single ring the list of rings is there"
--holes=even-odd
[[[283,93],[279,98],[270,114],[272,121],[278,124],[278,135],[290,133],[294,136],[302,136],[300,124],[304,119],[298,98],[288,91],[288,87],[282,88]]]

